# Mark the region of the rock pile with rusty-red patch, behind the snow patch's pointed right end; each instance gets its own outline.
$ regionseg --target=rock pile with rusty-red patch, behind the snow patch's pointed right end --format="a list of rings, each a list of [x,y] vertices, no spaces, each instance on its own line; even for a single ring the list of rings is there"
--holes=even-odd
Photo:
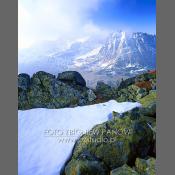
[[[149,71],[136,77],[122,80],[116,88],[112,88],[103,82],[98,82],[95,93],[101,101],[110,99],[116,99],[118,102],[140,101],[149,94],[156,94],[156,72]]]

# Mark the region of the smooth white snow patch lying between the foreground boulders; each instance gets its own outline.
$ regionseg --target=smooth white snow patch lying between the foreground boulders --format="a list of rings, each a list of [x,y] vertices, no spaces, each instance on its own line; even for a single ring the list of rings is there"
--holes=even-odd
[[[106,103],[64,109],[18,111],[18,174],[58,175],[80,133],[123,113],[139,103]],[[70,137],[71,136],[71,137]]]

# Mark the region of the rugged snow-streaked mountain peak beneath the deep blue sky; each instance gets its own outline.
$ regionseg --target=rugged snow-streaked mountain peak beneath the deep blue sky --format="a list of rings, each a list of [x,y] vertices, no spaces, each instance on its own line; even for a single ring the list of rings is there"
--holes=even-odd
[[[91,71],[122,73],[123,69],[155,69],[156,36],[146,33],[113,33],[96,55],[83,57],[81,62],[79,67]]]

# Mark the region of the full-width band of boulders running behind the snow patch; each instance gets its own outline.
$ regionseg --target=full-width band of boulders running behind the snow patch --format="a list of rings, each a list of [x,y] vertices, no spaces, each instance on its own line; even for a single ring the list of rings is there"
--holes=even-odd
[[[156,73],[148,72],[122,80],[119,87],[97,82],[95,89],[86,87],[83,77],[76,71],[55,75],[39,71],[31,78],[18,75],[18,108],[64,108],[106,102],[140,101],[146,105],[156,97]]]

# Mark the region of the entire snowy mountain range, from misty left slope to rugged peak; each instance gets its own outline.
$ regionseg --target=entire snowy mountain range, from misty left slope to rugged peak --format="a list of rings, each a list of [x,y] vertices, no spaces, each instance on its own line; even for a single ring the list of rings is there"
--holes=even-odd
[[[53,41],[39,49],[20,51],[19,60],[24,59],[27,61],[19,62],[19,73],[31,75],[43,70],[57,75],[77,70],[90,84],[107,77],[113,81],[156,68],[156,35],[121,31],[107,38],[84,37],[61,46]]]

